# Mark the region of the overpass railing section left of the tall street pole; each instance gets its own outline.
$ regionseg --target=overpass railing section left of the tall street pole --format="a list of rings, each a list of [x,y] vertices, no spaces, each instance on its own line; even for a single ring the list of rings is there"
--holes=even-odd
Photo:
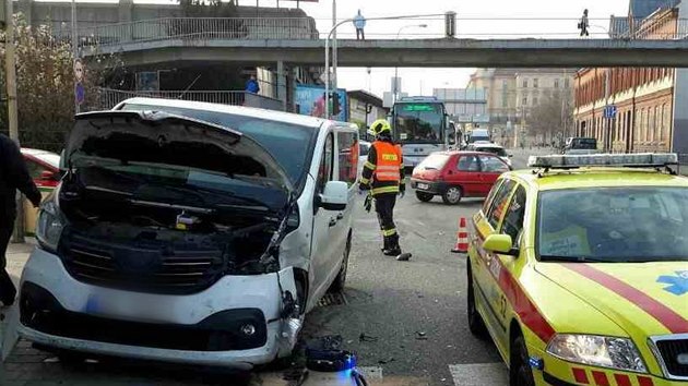
[[[310,17],[168,17],[78,29],[81,45],[188,39],[318,39]]]

